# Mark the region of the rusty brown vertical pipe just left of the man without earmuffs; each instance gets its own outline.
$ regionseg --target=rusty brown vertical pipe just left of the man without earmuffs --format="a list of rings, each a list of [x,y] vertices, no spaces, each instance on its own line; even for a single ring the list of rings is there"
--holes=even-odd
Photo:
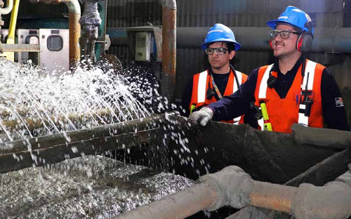
[[[173,102],[176,87],[176,0],[162,0],[162,90]]]

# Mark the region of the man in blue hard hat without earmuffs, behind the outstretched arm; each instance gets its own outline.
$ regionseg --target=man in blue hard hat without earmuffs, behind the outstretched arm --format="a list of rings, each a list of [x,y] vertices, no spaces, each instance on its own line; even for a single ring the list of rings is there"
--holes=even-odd
[[[241,45],[235,40],[234,32],[229,27],[216,24],[208,30],[201,48],[208,55],[209,69],[194,74],[185,88],[182,107],[187,116],[192,111],[201,109],[211,102],[220,100],[225,95],[237,91],[247,79],[246,74],[238,72],[230,65],[230,60]],[[239,124],[244,117],[227,119],[227,122]]]

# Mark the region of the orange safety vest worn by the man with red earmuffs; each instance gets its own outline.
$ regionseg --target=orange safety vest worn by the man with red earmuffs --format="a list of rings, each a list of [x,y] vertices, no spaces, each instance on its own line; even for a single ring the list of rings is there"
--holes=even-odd
[[[306,60],[305,77],[302,77],[301,68],[296,72],[293,84],[286,97],[281,99],[274,88],[267,88],[267,79],[270,77],[272,65],[260,67],[255,90],[255,104],[260,106],[260,100],[264,100],[267,106],[268,117],[273,131],[291,133],[293,124],[323,128],[321,81],[324,66],[310,60]],[[277,72],[271,72],[277,77]],[[308,78],[308,79],[307,79]],[[307,84],[307,96],[312,98],[310,117],[305,117],[305,88]],[[263,129],[263,119],[258,121]]]

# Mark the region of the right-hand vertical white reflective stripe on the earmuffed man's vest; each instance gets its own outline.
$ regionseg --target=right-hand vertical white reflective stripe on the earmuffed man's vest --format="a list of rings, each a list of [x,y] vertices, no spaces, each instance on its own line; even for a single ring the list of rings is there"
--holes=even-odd
[[[307,91],[313,90],[313,81],[314,81],[314,72],[316,69],[316,62],[312,62],[308,60],[306,63],[305,68],[305,76],[303,77],[303,84],[301,84],[301,91],[304,92],[307,84],[307,76],[308,76],[308,84],[307,84]],[[300,112],[298,112],[298,124],[303,126],[308,126],[308,117],[305,117],[305,109],[306,105],[301,104],[299,106]],[[302,111],[302,112],[301,112]]]

